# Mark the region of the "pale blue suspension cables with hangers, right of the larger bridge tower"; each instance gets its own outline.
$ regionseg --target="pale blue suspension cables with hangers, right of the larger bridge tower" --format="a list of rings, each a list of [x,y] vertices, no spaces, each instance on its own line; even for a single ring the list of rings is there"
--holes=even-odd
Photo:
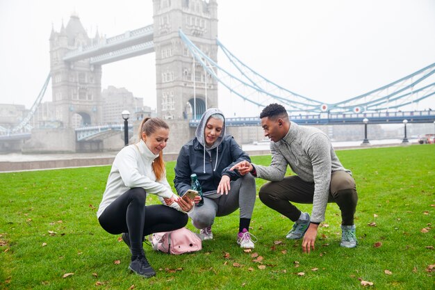
[[[266,106],[270,102],[278,102],[286,107],[289,113],[362,113],[363,111],[397,111],[399,108],[418,104],[422,99],[435,95],[435,63],[404,76],[402,79],[389,83],[363,95],[346,99],[337,103],[322,103],[304,97],[282,86],[277,85],[252,70],[239,58],[234,56],[220,40],[216,40],[230,67],[217,65],[215,61],[204,54],[184,33],[179,30],[181,40],[195,57],[197,63],[213,78],[227,88],[231,93],[256,106]],[[431,78],[432,77],[432,78]]]

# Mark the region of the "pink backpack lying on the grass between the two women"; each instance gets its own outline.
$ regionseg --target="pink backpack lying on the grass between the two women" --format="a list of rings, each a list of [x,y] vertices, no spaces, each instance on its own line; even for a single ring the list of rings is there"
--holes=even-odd
[[[157,232],[151,236],[153,250],[167,254],[180,255],[186,252],[202,250],[202,241],[194,232],[186,227],[172,232]]]

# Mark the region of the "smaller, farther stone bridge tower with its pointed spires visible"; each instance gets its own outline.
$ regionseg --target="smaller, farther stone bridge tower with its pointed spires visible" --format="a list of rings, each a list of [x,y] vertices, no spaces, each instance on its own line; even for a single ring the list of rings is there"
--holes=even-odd
[[[72,15],[66,28],[51,30],[50,73],[54,112],[51,118],[62,127],[83,127],[98,124],[101,113],[101,65],[90,65],[90,60],[67,62],[63,57],[99,40],[89,38],[79,16]]]

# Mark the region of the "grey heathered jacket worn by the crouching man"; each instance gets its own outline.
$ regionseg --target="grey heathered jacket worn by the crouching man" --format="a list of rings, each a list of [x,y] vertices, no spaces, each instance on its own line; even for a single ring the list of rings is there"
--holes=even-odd
[[[304,182],[314,183],[311,221],[321,223],[325,220],[331,172],[345,171],[352,175],[350,170],[341,165],[325,133],[314,127],[290,122],[286,136],[276,143],[270,143],[270,152],[270,166],[254,164],[257,177],[279,182],[284,179],[289,165]]]

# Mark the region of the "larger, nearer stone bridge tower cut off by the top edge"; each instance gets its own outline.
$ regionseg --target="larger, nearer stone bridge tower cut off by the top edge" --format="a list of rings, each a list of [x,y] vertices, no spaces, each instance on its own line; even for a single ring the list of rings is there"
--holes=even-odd
[[[217,82],[194,67],[179,29],[217,61],[217,2],[153,0],[153,5],[157,113],[167,120],[200,118],[206,107],[217,107]]]

